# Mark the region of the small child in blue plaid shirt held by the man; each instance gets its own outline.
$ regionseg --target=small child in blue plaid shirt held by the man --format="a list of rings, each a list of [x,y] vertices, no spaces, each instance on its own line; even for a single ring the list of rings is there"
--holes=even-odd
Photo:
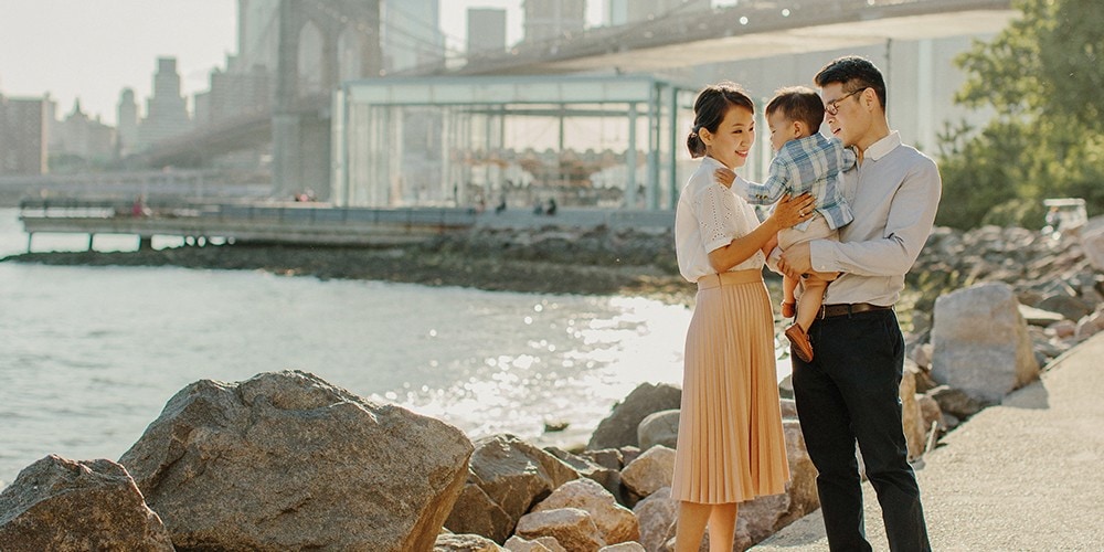
[[[851,208],[839,188],[840,174],[854,167],[854,152],[836,138],[820,134],[825,106],[816,91],[804,86],[783,88],[766,105],[771,145],[776,152],[766,182],[733,185],[732,190],[755,205],[778,201],[783,194],[811,193],[816,200],[813,219],[778,233],[778,248],[809,240],[838,240],[839,229],[851,222]],[[718,179],[733,183],[735,173],[721,169]],[[820,310],[825,290],[839,273],[811,272],[800,279],[783,278],[782,316],[797,319],[786,328],[794,353],[805,362],[813,360],[808,331]],[[797,286],[802,301],[796,304]]]

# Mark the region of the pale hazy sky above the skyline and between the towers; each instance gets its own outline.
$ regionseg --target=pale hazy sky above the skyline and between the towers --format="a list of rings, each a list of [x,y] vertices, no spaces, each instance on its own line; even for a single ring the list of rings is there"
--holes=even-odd
[[[440,0],[443,31],[463,40],[468,8],[506,8],[507,41],[521,38],[522,0]],[[601,21],[601,2],[587,18]],[[150,96],[157,59],[173,56],[189,98],[210,85],[215,67],[237,53],[236,0],[0,0],[0,94],[74,103],[93,118],[116,124],[124,88],[139,109]]]

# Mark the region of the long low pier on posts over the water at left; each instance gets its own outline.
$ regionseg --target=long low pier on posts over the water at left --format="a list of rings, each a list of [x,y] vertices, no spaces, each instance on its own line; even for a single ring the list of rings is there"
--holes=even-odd
[[[468,209],[332,208],[318,203],[244,204],[173,202],[135,205],[120,200],[30,199],[20,202],[20,220],[32,251],[34,234],[134,235],[139,248],[156,236],[185,242],[259,242],[382,246],[428,240],[467,230],[476,213]]]

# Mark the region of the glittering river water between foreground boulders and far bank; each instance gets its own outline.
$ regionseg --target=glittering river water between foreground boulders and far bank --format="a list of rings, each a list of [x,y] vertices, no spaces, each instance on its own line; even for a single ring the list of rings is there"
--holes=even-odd
[[[0,257],[26,245],[18,210],[0,209]],[[36,252],[86,245],[32,242]],[[95,240],[98,251],[136,247]],[[47,454],[118,459],[197,380],[289,369],[473,438],[585,443],[641,382],[681,381],[689,319],[686,307],[629,297],[2,262],[0,488]],[[570,426],[542,436],[546,422]]]

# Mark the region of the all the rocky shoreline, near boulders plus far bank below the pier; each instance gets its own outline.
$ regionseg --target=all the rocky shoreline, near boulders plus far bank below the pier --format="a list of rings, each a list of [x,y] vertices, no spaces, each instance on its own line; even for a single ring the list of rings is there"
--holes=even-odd
[[[1104,233],[1094,224],[1059,237],[1023,229],[933,232],[898,306],[907,320],[901,397],[911,458],[1104,330]],[[261,269],[690,304],[693,288],[677,274],[671,240],[484,229],[388,250],[235,244],[6,261]],[[785,383],[779,394],[794,477],[786,493],[741,507],[741,550],[819,506]],[[0,492],[0,549],[50,549],[76,535],[145,550],[669,550],[680,396],[675,386],[641,384],[585,446],[564,450],[505,434],[470,442],[439,421],[302,372],[200,381],[173,396],[118,463],[50,456],[24,469]]]

